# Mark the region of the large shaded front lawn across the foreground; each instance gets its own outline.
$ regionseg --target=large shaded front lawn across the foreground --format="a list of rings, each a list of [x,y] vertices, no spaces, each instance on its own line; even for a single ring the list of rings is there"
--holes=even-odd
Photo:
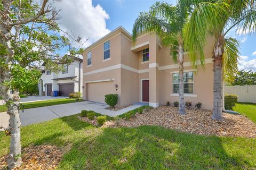
[[[10,137],[0,132],[0,157]],[[159,126],[95,128],[77,115],[21,128],[22,147],[66,149],[58,169],[254,169],[256,139],[204,136]]]

